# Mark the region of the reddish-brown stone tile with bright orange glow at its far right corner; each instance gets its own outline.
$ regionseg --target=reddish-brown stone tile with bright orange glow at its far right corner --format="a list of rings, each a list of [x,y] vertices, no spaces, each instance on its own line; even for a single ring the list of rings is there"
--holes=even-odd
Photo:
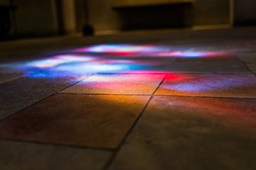
[[[115,148],[150,96],[58,94],[0,121],[0,138]]]

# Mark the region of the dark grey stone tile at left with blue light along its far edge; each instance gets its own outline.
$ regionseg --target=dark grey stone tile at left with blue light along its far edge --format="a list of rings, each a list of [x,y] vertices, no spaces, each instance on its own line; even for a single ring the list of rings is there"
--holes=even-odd
[[[63,74],[62,74],[63,75]],[[34,76],[34,77],[33,77]],[[80,77],[33,74],[0,85],[0,120],[78,82]]]

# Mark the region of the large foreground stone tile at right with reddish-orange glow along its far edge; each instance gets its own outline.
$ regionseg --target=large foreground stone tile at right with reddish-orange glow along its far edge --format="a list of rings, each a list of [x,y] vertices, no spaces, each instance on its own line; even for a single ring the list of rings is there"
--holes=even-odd
[[[155,96],[109,170],[256,169],[256,100]]]

